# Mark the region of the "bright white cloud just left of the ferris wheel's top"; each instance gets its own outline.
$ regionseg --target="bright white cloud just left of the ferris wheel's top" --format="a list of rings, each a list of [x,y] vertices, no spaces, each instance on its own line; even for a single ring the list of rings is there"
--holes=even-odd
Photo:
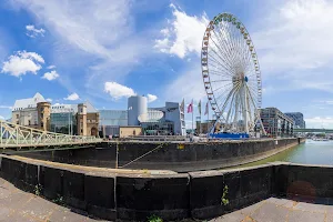
[[[170,8],[173,19],[161,30],[163,37],[155,40],[154,48],[179,58],[184,58],[189,52],[200,53],[203,32],[209,23],[206,14],[191,17],[172,3]]]

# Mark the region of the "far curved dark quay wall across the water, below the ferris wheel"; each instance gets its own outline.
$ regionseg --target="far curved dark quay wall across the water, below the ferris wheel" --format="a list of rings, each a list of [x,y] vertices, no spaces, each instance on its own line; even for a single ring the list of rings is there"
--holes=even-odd
[[[89,167],[115,168],[118,163],[119,168],[125,169],[190,172],[258,161],[301,142],[297,138],[220,142],[103,142],[97,148],[17,154]]]

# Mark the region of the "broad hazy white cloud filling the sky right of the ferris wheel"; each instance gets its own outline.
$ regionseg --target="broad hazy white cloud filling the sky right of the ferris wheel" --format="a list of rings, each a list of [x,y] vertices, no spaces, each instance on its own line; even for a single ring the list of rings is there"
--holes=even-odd
[[[332,13],[332,1],[291,0],[261,19],[260,31],[250,34],[262,73],[283,79],[285,90],[333,92],[333,75],[327,74],[333,69]]]

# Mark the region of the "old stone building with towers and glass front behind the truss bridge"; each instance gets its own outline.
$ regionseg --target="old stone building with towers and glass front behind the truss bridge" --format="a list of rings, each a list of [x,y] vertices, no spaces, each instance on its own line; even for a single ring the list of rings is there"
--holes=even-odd
[[[99,111],[88,101],[82,105],[85,107],[85,121],[78,129],[78,118],[82,117],[77,114],[78,104],[51,105],[40,93],[36,93],[33,98],[14,102],[11,122],[63,134],[98,135]]]

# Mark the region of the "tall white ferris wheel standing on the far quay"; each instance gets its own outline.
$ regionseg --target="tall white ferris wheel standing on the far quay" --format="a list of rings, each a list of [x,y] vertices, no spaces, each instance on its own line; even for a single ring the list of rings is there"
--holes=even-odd
[[[253,132],[261,121],[260,67],[248,30],[233,14],[220,13],[208,24],[201,65],[208,100],[222,131]]]

